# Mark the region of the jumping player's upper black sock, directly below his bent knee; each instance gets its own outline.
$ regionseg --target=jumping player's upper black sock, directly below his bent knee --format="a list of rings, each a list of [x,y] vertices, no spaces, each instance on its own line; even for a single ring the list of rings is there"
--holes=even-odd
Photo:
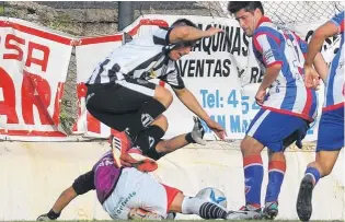
[[[136,138],[142,129],[149,127],[165,109],[165,106],[154,98],[143,103],[134,119],[128,120],[130,126],[128,132],[131,138]]]

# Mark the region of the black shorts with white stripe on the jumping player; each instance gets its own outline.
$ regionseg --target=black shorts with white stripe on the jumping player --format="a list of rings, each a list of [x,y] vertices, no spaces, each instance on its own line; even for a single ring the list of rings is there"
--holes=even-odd
[[[139,79],[88,85],[87,108],[103,124],[123,131],[141,105],[153,100],[156,86]]]

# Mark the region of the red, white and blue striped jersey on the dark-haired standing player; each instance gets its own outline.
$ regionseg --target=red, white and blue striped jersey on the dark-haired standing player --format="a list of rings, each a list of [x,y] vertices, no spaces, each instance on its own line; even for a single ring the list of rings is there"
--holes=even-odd
[[[261,67],[280,63],[263,107],[312,120],[317,116],[317,94],[304,85],[307,43],[294,32],[271,21],[258,25],[253,36],[254,54]]]

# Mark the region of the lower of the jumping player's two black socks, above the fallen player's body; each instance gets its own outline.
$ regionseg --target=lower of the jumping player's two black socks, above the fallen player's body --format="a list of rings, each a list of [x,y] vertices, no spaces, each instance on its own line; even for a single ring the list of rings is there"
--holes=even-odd
[[[165,131],[162,128],[153,125],[141,130],[134,143],[140,148],[143,154],[149,154],[151,150],[156,149],[157,143],[164,133]],[[154,159],[153,156],[149,157]]]

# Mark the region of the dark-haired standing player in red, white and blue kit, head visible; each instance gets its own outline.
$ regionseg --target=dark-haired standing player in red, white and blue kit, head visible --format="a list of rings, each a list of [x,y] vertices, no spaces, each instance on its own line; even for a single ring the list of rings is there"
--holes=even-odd
[[[274,219],[278,214],[278,197],[286,171],[283,141],[295,131],[306,132],[317,117],[315,92],[307,89],[303,82],[307,43],[266,17],[260,1],[230,1],[228,10],[239,21],[244,34],[252,37],[254,56],[264,72],[255,95],[261,109],[241,142],[245,178],[245,206],[242,209],[248,213],[233,217],[262,217],[264,167],[261,152],[266,147],[269,151],[268,185],[263,212],[267,219]],[[318,57],[322,59],[321,54]]]

